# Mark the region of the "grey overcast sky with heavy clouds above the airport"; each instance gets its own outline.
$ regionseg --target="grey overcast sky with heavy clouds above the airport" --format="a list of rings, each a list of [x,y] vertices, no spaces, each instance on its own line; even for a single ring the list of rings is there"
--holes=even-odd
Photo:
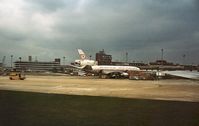
[[[70,63],[81,48],[148,63],[163,49],[169,62],[199,64],[198,22],[198,0],[0,0],[0,60]]]

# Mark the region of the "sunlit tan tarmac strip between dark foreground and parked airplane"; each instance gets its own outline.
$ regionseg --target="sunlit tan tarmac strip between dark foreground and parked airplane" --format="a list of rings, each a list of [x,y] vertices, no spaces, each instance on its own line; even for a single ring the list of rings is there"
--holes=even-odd
[[[0,90],[199,102],[199,81],[97,79],[77,76],[0,77]]]

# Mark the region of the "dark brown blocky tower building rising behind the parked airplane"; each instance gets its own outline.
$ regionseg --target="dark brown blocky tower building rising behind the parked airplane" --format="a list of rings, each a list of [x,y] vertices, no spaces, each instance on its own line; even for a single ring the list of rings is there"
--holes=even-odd
[[[112,63],[112,56],[107,55],[104,50],[96,53],[96,61],[99,65],[110,65]]]

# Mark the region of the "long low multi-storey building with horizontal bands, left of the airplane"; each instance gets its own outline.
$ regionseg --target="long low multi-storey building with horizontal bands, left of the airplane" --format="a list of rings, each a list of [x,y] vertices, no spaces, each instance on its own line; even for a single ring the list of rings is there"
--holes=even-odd
[[[51,62],[32,61],[32,57],[29,56],[28,61],[16,61],[14,62],[15,69],[20,71],[29,72],[44,72],[55,71],[60,68],[60,59],[55,59]]]

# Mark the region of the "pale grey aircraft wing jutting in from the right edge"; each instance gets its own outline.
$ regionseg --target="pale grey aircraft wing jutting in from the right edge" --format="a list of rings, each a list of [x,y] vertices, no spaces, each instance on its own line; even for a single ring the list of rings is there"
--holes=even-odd
[[[164,71],[163,73],[177,77],[199,80],[199,72],[196,71]]]

